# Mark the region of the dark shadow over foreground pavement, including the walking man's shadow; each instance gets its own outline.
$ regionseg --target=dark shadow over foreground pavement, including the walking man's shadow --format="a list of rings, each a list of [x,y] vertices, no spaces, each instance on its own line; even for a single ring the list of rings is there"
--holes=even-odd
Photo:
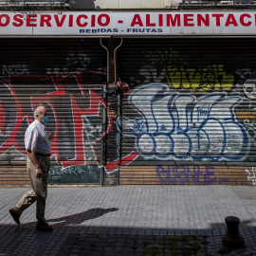
[[[211,223],[208,229],[157,229],[149,227],[92,226],[86,221],[96,219],[117,208],[94,208],[80,213],[48,219],[53,232],[35,230],[35,222],[0,225],[0,255],[217,255],[226,224]],[[54,223],[56,222],[56,223]],[[241,221],[243,232],[251,241],[236,253],[255,255],[256,237],[253,220]],[[150,224],[149,224],[150,226]],[[170,227],[170,223],[167,225]],[[241,229],[240,229],[241,231]],[[242,232],[242,235],[243,235]],[[29,241],[29,243],[27,243]],[[190,252],[192,254],[190,254]],[[186,254],[187,252],[187,254]],[[2,253],[2,254],[1,254]],[[182,253],[182,254],[180,254]],[[250,254],[253,253],[253,254]],[[226,254],[231,255],[231,254]],[[237,254],[235,254],[237,255]],[[246,254],[245,254],[246,255]]]

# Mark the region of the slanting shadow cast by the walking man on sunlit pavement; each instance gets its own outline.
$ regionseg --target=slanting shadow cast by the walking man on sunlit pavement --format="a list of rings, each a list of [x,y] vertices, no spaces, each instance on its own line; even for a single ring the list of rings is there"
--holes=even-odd
[[[56,224],[50,224],[53,227],[58,226],[58,225],[78,225],[82,224],[82,222],[91,220],[91,219],[96,219],[101,217],[102,215],[119,210],[118,208],[109,208],[109,209],[102,209],[102,208],[94,208],[90,210],[86,210],[80,213],[60,217],[60,218],[55,218],[55,219],[48,219],[48,222],[61,222],[61,223],[56,223]]]

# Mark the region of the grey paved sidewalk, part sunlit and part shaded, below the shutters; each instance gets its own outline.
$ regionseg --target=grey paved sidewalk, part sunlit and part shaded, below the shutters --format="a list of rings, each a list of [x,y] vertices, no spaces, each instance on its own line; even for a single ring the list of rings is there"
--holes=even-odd
[[[9,215],[27,191],[0,189],[0,256],[174,255],[168,241],[188,239],[201,247],[193,255],[220,255],[229,215],[240,218],[246,247],[226,255],[256,255],[254,187],[49,188],[50,233],[35,230],[35,205],[21,216],[20,226]]]

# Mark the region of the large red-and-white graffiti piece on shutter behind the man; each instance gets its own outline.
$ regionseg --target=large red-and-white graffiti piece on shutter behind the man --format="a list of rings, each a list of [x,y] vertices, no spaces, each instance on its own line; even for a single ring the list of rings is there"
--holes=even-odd
[[[65,77],[55,74],[49,76],[9,76],[9,81],[0,80],[2,96],[8,98],[8,100],[4,100],[3,97],[1,100],[0,155],[3,155],[11,147],[15,147],[25,154],[23,132],[33,120],[32,112],[35,107],[45,102],[50,116],[49,129],[54,129],[52,131],[54,139],[51,154],[56,155],[58,161],[61,161],[64,167],[73,165],[74,162],[75,164],[84,164],[85,160],[96,160],[97,152],[93,149],[94,143],[101,137],[101,125],[99,123],[101,124],[102,99],[94,91],[86,92],[82,88],[82,75],[84,75],[83,72],[71,73]],[[78,81],[77,86],[81,86],[79,91],[74,90],[72,94],[68,92],[68,86],[64,83],[71,78]],[[20,83],[23,81],[26,82],[28,87],[29,82],[46,81],[46,93],[43,94],[37,86],[31,86],[29,95],[27,95],[27,89],[20,87]],[[52,84],[49,85],[49,82],[52,82]],[[19,87],[16,85],[17,83]],[[74,88],[75,85],[72,85],[72,87]],[[22,90],[23,93],[21,93]],[[82,102],[77,100],[81,97],[84,99]],[[27,101],[30,102],[30,105],[27,104]],[[58,101],[62,103],[58,104]],[[67,104],[69,108],[67,107],[63,112],[64,104]],[[9,106],[13,107],[14,113],[9,111]],[[30,109],[28,109],[29,107]],[[13,121],[13,115],[15,121]],[[69,119],[67,119],[68,116],[70,116]],[[92,121],[89,121],[90,117],[98,119],[96,126],[93,126]],[[68,136],[64,136],[64,134],[68,134]],[[95,152],[94,156],[91,153],[90,155],[86,154],[85,141],[93,143],[90,145],[89,151]],[[64,143],[73,145],[73,147],[69,147],[68,155]]]

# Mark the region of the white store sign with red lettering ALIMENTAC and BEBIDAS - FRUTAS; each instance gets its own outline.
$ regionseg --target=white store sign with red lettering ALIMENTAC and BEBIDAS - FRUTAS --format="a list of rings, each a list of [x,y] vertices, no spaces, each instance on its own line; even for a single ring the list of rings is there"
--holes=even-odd
[[[0,34],[60,36],[256,35],[256,12],[0,12]]]

